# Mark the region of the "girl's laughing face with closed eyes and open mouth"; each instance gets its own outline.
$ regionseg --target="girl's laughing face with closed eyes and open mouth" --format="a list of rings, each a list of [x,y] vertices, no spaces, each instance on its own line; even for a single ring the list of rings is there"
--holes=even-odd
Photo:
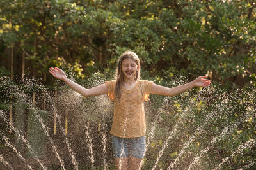
[[[134,80],[136,73],[139,71],[139,66],[133,59],[127,58],[122,62],[122,73],[126,80]]]

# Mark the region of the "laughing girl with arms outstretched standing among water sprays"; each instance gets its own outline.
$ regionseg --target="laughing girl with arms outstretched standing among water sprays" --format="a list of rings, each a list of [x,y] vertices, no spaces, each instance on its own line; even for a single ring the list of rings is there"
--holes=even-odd
[[[127,51],[118,59],[116,80],[91,89],[85,89],[67,78],[58,67],[49,68],[49,73],[63,80],[81,95],[108,94],[114,102],[114,117],[111,126],[113,156],[117,169],[140,169],[145,156],[145,114],[143,101],[150,93],[175,96],[193,87],[208,86],[211,81],[200,76],[195,80],[173,88],[156,85],[152,81],[140,80],[140,59],[136,53]]]

